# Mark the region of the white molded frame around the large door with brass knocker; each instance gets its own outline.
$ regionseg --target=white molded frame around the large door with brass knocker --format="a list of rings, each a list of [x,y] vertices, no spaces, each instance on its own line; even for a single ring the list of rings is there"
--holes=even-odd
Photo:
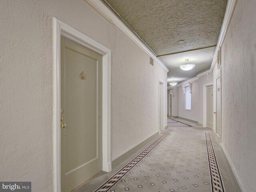
[[[53,17],[54,101],[53,101],[53,166],[54,192],[60,192],[60,36],[64,36],[102,55],[102,170],[109,172],[111,126],[111,50]]]

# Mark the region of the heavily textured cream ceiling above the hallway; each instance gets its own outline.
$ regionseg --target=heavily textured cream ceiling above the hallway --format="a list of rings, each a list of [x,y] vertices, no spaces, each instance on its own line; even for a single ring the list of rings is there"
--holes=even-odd
[[[180,82],[210,67],[215,47],[169,56],[163,54],[214,46],[218,42],[227,0],[102,0],[142,38],[168,66],[168,78]],[[178,44],[184,40],[183,44]],[[182,71],[188,58],[196,67]]]

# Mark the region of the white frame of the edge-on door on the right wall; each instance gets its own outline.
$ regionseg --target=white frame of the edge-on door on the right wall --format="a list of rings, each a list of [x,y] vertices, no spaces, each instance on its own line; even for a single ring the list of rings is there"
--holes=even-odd
[[[220,67],[220,71],[218,72],[218,74],[216,75],[215,79],[214,79],[214,82],[215,82],[215,103],[214,103],[214,112],[217,112],[217,79],[220,78],[220,111],[221,111],[221,122],[220,122],[220,125],[221,125],[221,128],[220,128],[220,135],[217,134],[217,114],[215,114],[214,116],[214,132],[215,132],[215,140],[216,140],[216,143],[220,146],[221,144],[221,135],[222,135],[222,80],[221,80],[221,67]]]

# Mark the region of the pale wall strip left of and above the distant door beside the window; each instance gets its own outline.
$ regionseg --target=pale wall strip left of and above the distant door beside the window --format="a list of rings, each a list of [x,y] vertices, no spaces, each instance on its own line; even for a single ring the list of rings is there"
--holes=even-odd
[[[203,108],[204,108],[204,98],[203,98],[203,89],[204,84],[212,83],[212,73],[204,75],[198,78],[198,123],[203,124]]]

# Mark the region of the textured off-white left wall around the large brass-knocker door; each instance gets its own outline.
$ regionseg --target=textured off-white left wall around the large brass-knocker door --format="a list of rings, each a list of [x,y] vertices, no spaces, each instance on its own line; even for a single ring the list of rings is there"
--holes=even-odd
[[[167,82],[84,0],[0,1],[0,180],[32,181],[41,192],[53,190],[53,16],[112,51],[112,159],[156,133],[158,81]]]

